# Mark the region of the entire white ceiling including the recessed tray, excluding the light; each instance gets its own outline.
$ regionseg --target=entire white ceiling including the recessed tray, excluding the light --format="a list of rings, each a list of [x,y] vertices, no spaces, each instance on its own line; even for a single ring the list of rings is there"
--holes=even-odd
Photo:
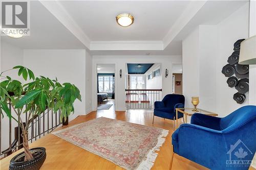
[[[92,55],[181,55],[198,25],[216,25],[242,1],[31,1],[31,36],[1,41],[24,49],[81,49]],[[131,13],[132,26],[115,16]]]

